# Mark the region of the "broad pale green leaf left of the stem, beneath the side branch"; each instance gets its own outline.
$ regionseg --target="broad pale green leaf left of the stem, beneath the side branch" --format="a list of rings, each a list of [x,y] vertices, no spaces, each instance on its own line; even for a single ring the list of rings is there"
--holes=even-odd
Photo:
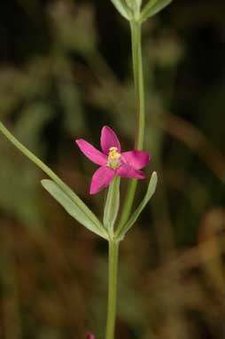
[[[105,228],[101,225],[100,222],[94,223],[90,220],[89,216],[85,214],[80,207],[72,201],[72,199],[57,185],[54,181],[49,179],[42,180],[43,187],[50,193],[50,195],[59,202],[59,204],[66,209],[66,212],[71,216],[74,217],[81,225],[85,226],[96,233],[102,238],[107,239],[107,233],[105,232]]]

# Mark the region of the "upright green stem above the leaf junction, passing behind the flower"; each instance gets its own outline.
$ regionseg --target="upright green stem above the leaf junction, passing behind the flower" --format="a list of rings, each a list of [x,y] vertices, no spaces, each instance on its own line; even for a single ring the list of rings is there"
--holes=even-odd
[[[144,146],[144,75],[142,58],[142,23],[136,20],[130,21],[132,58],[134,69],[134,81],[136,91],[137,105],[137,123],[136,123],[136,142],[135,148],[142,150]],[[130,180],[128,184],[127,198],[124,203],[123,211],[120,217],[118,229],[123,227],[128,221],[136,194],[137,180]]]

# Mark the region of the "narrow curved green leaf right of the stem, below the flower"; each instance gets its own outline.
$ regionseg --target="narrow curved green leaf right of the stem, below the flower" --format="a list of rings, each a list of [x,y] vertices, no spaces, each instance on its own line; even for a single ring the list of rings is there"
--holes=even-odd
[[[122,229],[120,230],[120,233],[116,234],[117,239],[123,239],[124,235],[128,232],[128,230],[136,223],[137,218],[140,216],[144,207],[151,200],[152,195],[155,193],[157,182],[158,182],[157,173],[153,172],[151,175],[151,179],[149,182],[147,192],[144,196],[144,200],[140,203],[136,211],[129,218],[128,223],[125,224],[124,227],[122,227]]]

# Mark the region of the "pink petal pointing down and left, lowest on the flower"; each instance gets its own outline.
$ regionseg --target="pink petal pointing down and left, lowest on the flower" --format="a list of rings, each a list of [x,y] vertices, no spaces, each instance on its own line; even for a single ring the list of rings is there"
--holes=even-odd
[[[97,169],[92,177],[89,193],[95,194],[103,190],[112,182],[114,175],[115,171],[107,166],[102,166]]]

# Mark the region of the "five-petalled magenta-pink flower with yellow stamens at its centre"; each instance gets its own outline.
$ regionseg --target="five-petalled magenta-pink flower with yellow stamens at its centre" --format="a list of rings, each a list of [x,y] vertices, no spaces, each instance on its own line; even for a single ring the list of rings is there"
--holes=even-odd
[[[98,193],[110,185],[115,176],[144,179],[140,169],[148,164],[150,154],[143,151],[120,153],[120,141],[110,127],[104,126],[101,132],[102,152],[84,139],[78,139],[76,143],[91,162],[100,165],[92,177],[90,194]]]

